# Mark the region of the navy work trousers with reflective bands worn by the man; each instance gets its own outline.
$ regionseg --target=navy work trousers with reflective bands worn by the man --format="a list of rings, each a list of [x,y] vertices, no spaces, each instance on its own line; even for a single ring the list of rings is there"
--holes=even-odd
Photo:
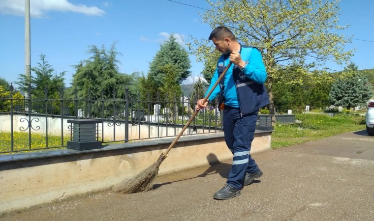
[[[258,170],[249,154],[256,130],[257,112],[241,116],[239,108],[225,106],[223,110],[225,141],[234,155],[227,184],[237,189],[242,189],[246,172]]]

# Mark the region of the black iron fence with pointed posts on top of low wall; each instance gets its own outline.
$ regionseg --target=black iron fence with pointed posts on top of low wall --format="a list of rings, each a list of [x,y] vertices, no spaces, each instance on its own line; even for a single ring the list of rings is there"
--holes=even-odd
[[[24,98],[14,98],[13,86],[8,97],[0,98],[0,153],[66,148],[73,140],[72,119],[99,119],[96,140],[102,143],[129,142],[165,138],[178,135],[193,113],[196,101],[189,97],[165,97],[155,101],[141,99],[140,94],[129,97],[128,89],[123,97],[113,91],[112,97],[93,99],[78,96],[75,89],[72,99],[64,96],[44,98],[33,96],[29,87]],[[199,111],[189,125],[188,134],[216,133],[222,131],[221,113],[217,103]]]

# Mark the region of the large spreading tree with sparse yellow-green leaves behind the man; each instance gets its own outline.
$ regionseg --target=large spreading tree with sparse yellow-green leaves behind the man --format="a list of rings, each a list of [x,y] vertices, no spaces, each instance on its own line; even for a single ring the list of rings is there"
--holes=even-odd
[[[207,0],[211,5],[202,17],[212,28],[230,28],[238,40],[260,49],[268,72],[270,111],[274,113],[273,84],[280,79],[279,69],[297,63],[309,70],[326,60],[341,64],[352,51],[344,51],[351,40],[336,30],[339,26],[339,0]],[[211,56],[214,47],[207,40],[192,38],[192,53],[201,60]],[[196,47],[197,46],[197,47]],[[308,61],[308,62],[307,62]]]

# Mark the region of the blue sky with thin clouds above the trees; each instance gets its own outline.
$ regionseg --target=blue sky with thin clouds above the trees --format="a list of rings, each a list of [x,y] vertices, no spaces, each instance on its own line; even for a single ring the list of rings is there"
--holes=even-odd
[[[171,34],[188,52],[186,42],[190,36],[207,39],[212,31],[209,25],[201,23],[199,15],[209,8],[205,0],[30,2],[31,67],[37,66],[41,54],[46,55],[56,73],[66,72],[66,86],[70,86],[75,73],[73,65],[90,57],[90,45],[109,49],[116,42],[116,49],[122,54],[117,57],[121,62],[119,71],[146,75],[160,45]],[[338,24],[349,24],[342,33],[353,38],[345,49],[356,48],[351,61],[359,69],[374,68],[374,0],[341,0],[339,6]],[[25,73],[24,10],[25,0],[0,0],[0,77],[9,83],[18,81],[19,75]],[[203,63],[196,62],[193,55],[190,60],[192,75],[201,76]],[[331,62],[326,67],[343,70],[343,66]],[[186,83],[192,81],[190,78]]]

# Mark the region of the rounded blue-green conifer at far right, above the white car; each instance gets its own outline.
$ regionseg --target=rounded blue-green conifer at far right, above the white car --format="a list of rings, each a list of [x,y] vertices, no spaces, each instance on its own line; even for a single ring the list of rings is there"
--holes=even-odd
[[[332,105],[350,110],[352,107],[364,105],[372,95],[373,89],[366,76],[356,73],[332,84],[329,101]]]

